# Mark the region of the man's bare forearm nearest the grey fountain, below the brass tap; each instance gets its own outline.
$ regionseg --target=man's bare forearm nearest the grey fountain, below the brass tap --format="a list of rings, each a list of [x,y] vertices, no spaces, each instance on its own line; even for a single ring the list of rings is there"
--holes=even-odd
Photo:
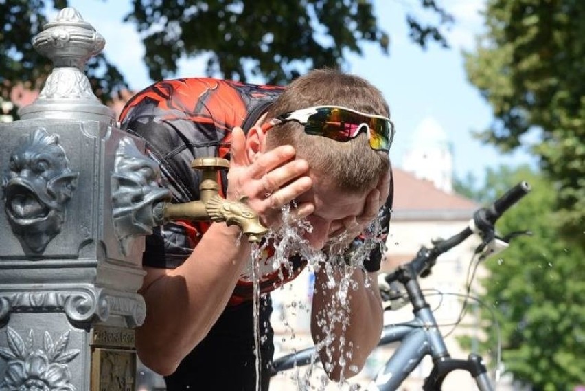
[[[236,227],[214,223],[183,265],[148,272],[137,351],[155,372],[174,372],[225,309],[250,254],[246,238],[238,235]]]

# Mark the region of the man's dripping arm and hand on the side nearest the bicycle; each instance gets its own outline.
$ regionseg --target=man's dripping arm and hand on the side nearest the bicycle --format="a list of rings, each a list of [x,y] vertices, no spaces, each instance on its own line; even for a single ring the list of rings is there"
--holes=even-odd
[[[333,232],[333,235],[345,232],[345,236],[353,238],[354,235],[363,232],[364,227],[371,221],[380,219],[380,213],[382,214],[380,223],[387,226],[392,199],[393,180],[392,172],[389,170],[368,195],[363,214],[345,219],[342,222],[343,227]],[[386,208],[382,208],[382,205],[386,205]],[[384,237],[385,235],[380,237],[380,240],[384,240]],[[349,288],[345,288],[347,302],[343,304],[340,304],[340,299],[336,296],[340,290],[339,282],[343,271],[334,271],[333,279],[336,286],[331,288],[328,287],[329,277],[325,273],[325,265],[315,273],[311,334],[315,344],[321,347],[319,355],[330,379],[339,381],[356,375],[362,370],[371,351],[378,345],[383,327],[383,309],[376,270],[380,267],[381,255],[380,252],[371,252],[370,256],[373,258],[367,262],[373,263],[369,263],[368,271],[354,269],[352,276],[349,276]],[[358,289],[352,289],[354,284],[357,284]],[[342,313],[336,314],[336,311]],[[332,317],[340,315],[341,319],[332,320]],[[332,340],[325,343],[324,341],[330,337],[328,333]]]

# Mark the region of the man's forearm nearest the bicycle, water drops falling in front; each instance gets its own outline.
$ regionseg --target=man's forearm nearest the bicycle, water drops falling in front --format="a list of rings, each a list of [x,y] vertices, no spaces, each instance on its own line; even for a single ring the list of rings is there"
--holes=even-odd
[[[365,287],[366,278],[369,278],[369,287]],[[336,298],[339,286],[328,289],[327,279],[321,268],[315,276],[311,332],[317,346],[324,345],[327,334],[332,333],[332,340],[328,346],[321,348],[319,355],[330,378],[339,381],[342,377],[347,379],[356,375],[371,350],[378,345],[383,322],[382,302],[376,273],[369,273],[368,276],[356,269],[352,281],[358,284],[358,289],[352,289],[350,284],[347,304],[343,306]],[[336,280],[339,281],[339,276]],[[331,311],[341,311],[341,319],[333,320],[332,328]],[[345,327],[344,322],[347,322]]]

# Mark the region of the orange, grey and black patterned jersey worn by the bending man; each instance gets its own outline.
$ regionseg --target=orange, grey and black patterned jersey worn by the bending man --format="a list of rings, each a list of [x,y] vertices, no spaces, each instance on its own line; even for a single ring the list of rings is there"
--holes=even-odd
[[[229,159],[231,130],[240,126],[247,131],[280,93],[282,87],[214,78],[164,80],[137,93],[124,107],[120,121],[122,129],[146,141],[148,154],[161,167],[162,185],[172,191],[173,202],[183,203],[200,199],[200,172],[191,168],[192,161],[200,157]],[[226,175],[226,170],[220,172],[222,196]],[[155,228],[154,234],[146,238],[144,265],[165,268],[181,265],[208,227],[209,222],[205,221],[174,221]],[[292,269],[282,267],[275,271],[271,255],[269,250],[260,262],[263,292],[295,278],[305,264],[297,257],[292,259]],[[378,270],[380,256],[372,256],[366,269]],[[251,293],[252,282],[243,274],[230,304],[251,299]]]

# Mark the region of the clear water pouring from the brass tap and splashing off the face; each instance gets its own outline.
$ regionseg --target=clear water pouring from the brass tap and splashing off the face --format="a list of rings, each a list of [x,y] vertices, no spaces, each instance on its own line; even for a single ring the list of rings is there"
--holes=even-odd
[[[295,206],[293,205],[293,208]],[[306,232],[312,232],[312,226],[308,221],[304,219],[291,219],[290,218],[290,206],[286,205],[282,208],[282,216],[284,225],[276,231],[269,232],[266,236],[261,247],[255,245],[251,254],[251,279],[253,282],[253,319],[254,319],[254,341],[255,341],[255,370],[256,370],[256,390],[260,390],[260,372],[262,371],[262,357],[260,355],[260,276],[258,276],[258,264],[262,257],[262,252],[266,247],[266,243],[272,243],[275,253],[273,256],[273,269],[279,270],[281,279],[284,279],[283,267],[292,274],[292,263],[290,262],[290,256],[299,254],[307,262],[309,271],[318,273],[323,268],[327,278],[321,286],[315,286],[315,290],[327,290],[332,292],[331,302],[328,303],[324,311],[318,314],[318,324],[323,328],[327,337],[317,344],[317,350],[324,349],[325,354],[330,357],[330,362],[325,364],[330,369],[332,364],[333,350],[339,349],[341,354],[341,360],[339,364],[346,372],[345,366],[347,360],[352,359],[353,346],[352,343],[345,341],[345,331],[349,326],[349,305],[347,298],[349,290],[356,290],[359,288],[358,283],[352,278],[354,271],[360,268],[363,269],[365,260],[369,259],[370,253],[376,247],[380,248],[380,252],[384,254],[385,243],[380,240],[380,222],[375,220],[367,229],[363,232],[364,241],[358,246],[355,246],[347,256],[346,245],[347,238],[338,236],[335,240],[328,243],[329,251],[327,254],[322,251],[316,251],[310,247],[308,241],[303,238]],[[369,287],[371,281],[365,280],[365,286]],[[336,291],[334,291],[336,290]],[[333,347],[334,339],[336,338],[334,331],[341,330],[339,336],[339,344]],[[293,375],[293,381],[297,385],[297,390],[304,391],[308,389],[315,389],[310,386],[310,377],[314,370],[314,366],[317,363],[317,354],[312,357],[311,364],[308,366],[304,376],[300,375],[297,368],[295,375]],[[348,368],[352,372],[357,372],[355,366],[349,366]],[[343,375],[342,375],[343,376]],[[344,379],[341,379],[343,383]],[[328,384],[327,377],[321,378],[321,384],[319,390],[324,390]]]

